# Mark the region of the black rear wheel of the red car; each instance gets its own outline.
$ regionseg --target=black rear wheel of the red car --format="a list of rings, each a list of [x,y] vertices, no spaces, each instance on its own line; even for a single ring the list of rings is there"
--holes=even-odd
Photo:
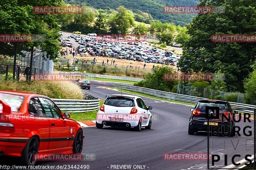
[[[21,154],[21,163],[26,166],[36,164],[35,154],[38,153],[39,140],[37,137],[31,137]]]

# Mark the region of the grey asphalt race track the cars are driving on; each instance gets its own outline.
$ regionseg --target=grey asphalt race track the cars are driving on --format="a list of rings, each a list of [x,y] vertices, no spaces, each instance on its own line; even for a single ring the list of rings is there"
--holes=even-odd
[[[105,99],[106,94],[120,93],[96,88],[97,86],[110,87],[111,83],[99,81],[91,81],[91,83],[91,90],[87,92],[102,99]],[[206,132],[188,135],[191,106],[142,98],[147,106],[153,107],[151,110],[153,115],[152,129],[142,128],[140,132],[137,132],[132,129],[115,127],[103,127],[103,129],[96,129],[96,127],[84,128],[85,138],[82,154],[94,153],[96,155],[95,161],[48,161],[39,162],[37,165],[89,165],[90,169],[97,170],[111,169],[111,165],[132,165],[132,169],[133,165],[145,165],[145,169],[148,170],[207,169],[207,160],[170,161],[163,159],[163,154],[166,152],[207,153]],[[236,125],[244,126],[244,124],[237,123]],[[252,154],[253,150],[248,150],[248,148],[252,149],[252,143],[245,146],[244,139],[248,139],[244,134],[242,134],[242,137],[210,137],[210,140],[213,141],[210,144],[213,147],[211,152],[213,154],[225,153],[228,155]],[[224,140],[225,143],[223,142]],[[245,150],[246,148],[247,151]],[[241,158],[236,158],[235,161],[243,158],[244,155]],[[223,161],[216,164],[214,168],[224,167]],[[228,157],[229,164],[231,164],[231,157]]]

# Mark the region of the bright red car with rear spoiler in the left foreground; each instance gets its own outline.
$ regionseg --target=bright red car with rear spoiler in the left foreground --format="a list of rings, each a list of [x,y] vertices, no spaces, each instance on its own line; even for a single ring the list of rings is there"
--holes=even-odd
[[[0,155],[36,163],[35,154],[81,154],[83,129],[47,96],[0,90]]]

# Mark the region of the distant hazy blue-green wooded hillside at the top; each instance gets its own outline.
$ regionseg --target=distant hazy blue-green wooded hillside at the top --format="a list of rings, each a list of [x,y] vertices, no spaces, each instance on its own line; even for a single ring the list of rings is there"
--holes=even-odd
[[[69,4],[81,4],[81,1],[76,0],[64,0]],[[149,13],[154,19],[161,22],[173,22],[176,25],[184,26],[191,22],[195,14],[166,14],[163,13],[163,6],[166,5],[197,5],[199,0],[86,0],[86,5],[94,7],[96,9],[116,9],[120,5],[125,8],[136,12],[140,10],[142,12]]]

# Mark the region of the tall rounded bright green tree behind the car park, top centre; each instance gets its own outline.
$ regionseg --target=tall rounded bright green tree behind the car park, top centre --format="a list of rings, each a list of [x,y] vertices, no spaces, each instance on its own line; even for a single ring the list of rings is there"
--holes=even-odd
[[[128,29],[134,25],[134,18],[123,6],[117,8],[117,14],[109,18],[111,33],[126,34]]]

